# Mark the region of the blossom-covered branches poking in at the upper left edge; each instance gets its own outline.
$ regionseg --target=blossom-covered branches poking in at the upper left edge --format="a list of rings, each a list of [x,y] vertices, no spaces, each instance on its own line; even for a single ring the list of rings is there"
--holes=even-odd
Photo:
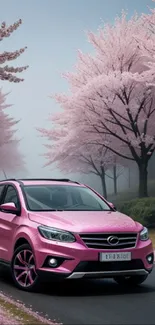
[[[3,41],[4,38],[9,37],[20,25],[22,20],[19,19],[13,25],[7,26],[3,22],[0,26],[0,41]],[[8,66],[6,63],[18,58],[22,53],[24,53],[26,47],[16,50],[14,52],[3,52],[0,54],[0,80],[7,80],[10,82],[21,82],[24,79],[16,77],[16,73],[21,73],[28,68],[28,66],[23,67],[13,67]],[[6,64],[6,65],[5,65]]]

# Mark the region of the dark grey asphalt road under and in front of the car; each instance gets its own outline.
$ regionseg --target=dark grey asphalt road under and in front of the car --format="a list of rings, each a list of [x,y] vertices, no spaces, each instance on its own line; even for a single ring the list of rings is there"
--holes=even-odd
[[[48,284],[39,293],[17,290],[0,272],[0,290],[63,324],[155,324],[155,269],[145,284],[120,288],[112,280]]]

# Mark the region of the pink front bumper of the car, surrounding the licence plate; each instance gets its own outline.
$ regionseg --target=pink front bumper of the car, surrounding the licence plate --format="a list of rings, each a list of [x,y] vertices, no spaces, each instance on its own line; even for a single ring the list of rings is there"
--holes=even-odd
[[[80,278],[112,278],[117,275],[148,275],[153,269],[153,263],[149,264],[147,256],[153,254],[150,240],[138,241],[135,248],[123,249],[123,252],[131,252],[131,261],[100,262],[99,254],[103,250],[90,249],[83,244],[75,242],[49,243],[41,239],[40,249],[35,249],[37,273],[39,276],[49,279],[80,279]],[[109,251],[105,251],[109,253]],[[110,253],[117,253],[120,250]],[[49,258],[60,260],[58,267],[48,265]]]

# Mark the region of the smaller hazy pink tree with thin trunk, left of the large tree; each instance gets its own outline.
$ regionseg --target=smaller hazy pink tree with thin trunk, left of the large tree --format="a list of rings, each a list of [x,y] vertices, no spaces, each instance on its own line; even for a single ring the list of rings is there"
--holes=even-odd
[[[103,195],[107,199],[106,171],[115,163],[113,153],[104,146],[88,143],[87,139],[85,141],[87,134],[83,131],[76,139],[70,137],[67,124],[64,122],[65,127],[61,128],[58,121],[59,119],[51,130],[38,129],[49,140],[49,144],[45,145],[45,166],[55,164],[63,172],[95,174],[101,180]],[[111,178],[109,175],[108,177]]]

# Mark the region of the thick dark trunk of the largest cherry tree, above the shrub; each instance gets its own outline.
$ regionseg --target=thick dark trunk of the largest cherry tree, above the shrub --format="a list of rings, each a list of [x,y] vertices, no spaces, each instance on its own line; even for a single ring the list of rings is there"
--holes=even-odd
[[[148,178],[148,162],[142,162],[139,167],[139,197],[148,196],[147,178]]]

